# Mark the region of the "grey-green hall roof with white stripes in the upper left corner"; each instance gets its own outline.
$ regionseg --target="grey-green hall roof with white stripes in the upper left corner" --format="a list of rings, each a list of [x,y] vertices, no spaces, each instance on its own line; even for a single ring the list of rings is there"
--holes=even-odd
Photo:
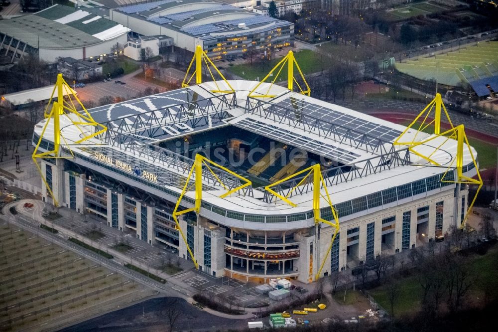
[[[76,48],[113,39],[128,28],[85,10],[55,4],[34,14],[0,20],[0,31],[35,48]]]

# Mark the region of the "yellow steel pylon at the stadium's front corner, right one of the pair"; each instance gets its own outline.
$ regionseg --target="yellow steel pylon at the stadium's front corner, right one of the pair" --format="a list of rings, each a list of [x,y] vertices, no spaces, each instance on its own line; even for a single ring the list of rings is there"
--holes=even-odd
[[[294,178],[294,177],[301,175],[301,174],[304,174],[304,173],[306,173],[306,175],[304,175],[304,177],[294,187],[292,187],[285,196],[283,196],[283,195],[279,194],[278,192],[274,191],[273,189],[271,189],[271,187],[274,187],[275,185],[278,185],[282,182],[290,180],[291,178]],[[294,192],[294,190],[296,190],[296,188],[298,186],[305,183],[305,181],[308,180],[310,176],[313,176],[313,178],[312,178],[313,179],[313,215],[315,218],[315,224],[325,223],[325,224],[330,225],[330,226],[335,228],[335,232],[334,232],[334,235],[332,236],[332,240],[330,242],[329,249],[327,249],[327,253],[325,254],[325,257],[323,258],[322,263],[320,264],[320,268],[319,268],[317,274],[315,275],[315,280],[318,280],[320,278],[320,273],[322,272],[322,269],[325,265],[326,259],[329,256],[330,251],[332,250],[332,245],[334,244],[334,240],[336,239],[337,233],[339,232],[339,218],[337,217],[336,209],[334,208],[334,206],[332,206],[332,200],[330,199],[329,191],[327,190],[327,184],[325,183],[325,181],[323,179],[322,172],[320,169],[320,164],[316,164],[316,165],[310,166],[308,168],[305,168],[303,170],[300,170],[300,171],[298,171],[290,176],[287,176],[286,178],[283,178],[275,183],[272,183],[272,184],[265,186],[264,189],[266,191],[270,192],[271,194],[275,195],[276,197],[280,198],[281,200],[283,200],[284,202],[286,202],[290,206],[296,207],[297,205],[289,199],[289,196],[292,194],[292,192]],[[323,195],[322,192],[320,191],[320,188],[322,186],[323,186],[323,189],[325,191],[325,195]],[[324,198],[325,201],[330,206],[330,209],[332,211],[332,216],[334,218],[334,222],[323,219],[321,217],[320,198]]]

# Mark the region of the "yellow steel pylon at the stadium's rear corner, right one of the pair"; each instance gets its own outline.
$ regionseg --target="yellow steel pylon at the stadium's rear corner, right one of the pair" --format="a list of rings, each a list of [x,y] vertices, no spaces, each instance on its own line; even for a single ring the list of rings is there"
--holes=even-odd
[[[271,87],[273,86],[273,84],[277,80],[278,75],[280,75],[280,72],[282,71],[282,69],[284,68],[284,66],[286,64],[287,64],[287,89],[289,89],[290,91],[293,91],[294,90],[294,82],[296,82],[296,84],[297,84],[297,86],[299,88],[299,93],[301,93],[303,95],[306,95],[306,96],[309,96],[310,93],[311,93],[311,89],[310,89],[310,87],[308,85],[308,82],[306,82],[306,79],[304,78],[303,72],[301,71],[301,68],[299,67],[299,64],[297,63],[296,58],[294,57],[294,52],[289,51],[289,53],[287,53],[287,55],[282,60],[280,60],[280,62],[278,62],[277,65],[275,67],[273,67],[273,69],[270,70],[270,72],[268,73],[268,75],[266,75],[254,87],[254,89],[252,89],[249,92],[249,97],[252,97],[252,98],[266,98],[266,97],[272,98],[272,97],[275,97],[275,95],[270,95],[269,92],[270,92]],[[301,88],[301,85],[299,85],[299,83],[297,82],[296,78],[294,77],[294,65],[296,65],[296,68],[297,68],[297,70],[299,72],[299,75],[301,76],[301,79],[303,80],[304,84],[306,85],[306,90],[303,90]],[[277,70],[277,69],[278,69],[278,72],[275,75],[275,78],[271,82],[270,86],[268,87],[268,90],[266,90],[266,92],[264,94],[258,94],[258,93],[254,94],[254,91],[256,91],[256,89],[263,82],[265,82],[268,77],[270,77],[271,75],[273,75],[273,72],[275,70]]]

